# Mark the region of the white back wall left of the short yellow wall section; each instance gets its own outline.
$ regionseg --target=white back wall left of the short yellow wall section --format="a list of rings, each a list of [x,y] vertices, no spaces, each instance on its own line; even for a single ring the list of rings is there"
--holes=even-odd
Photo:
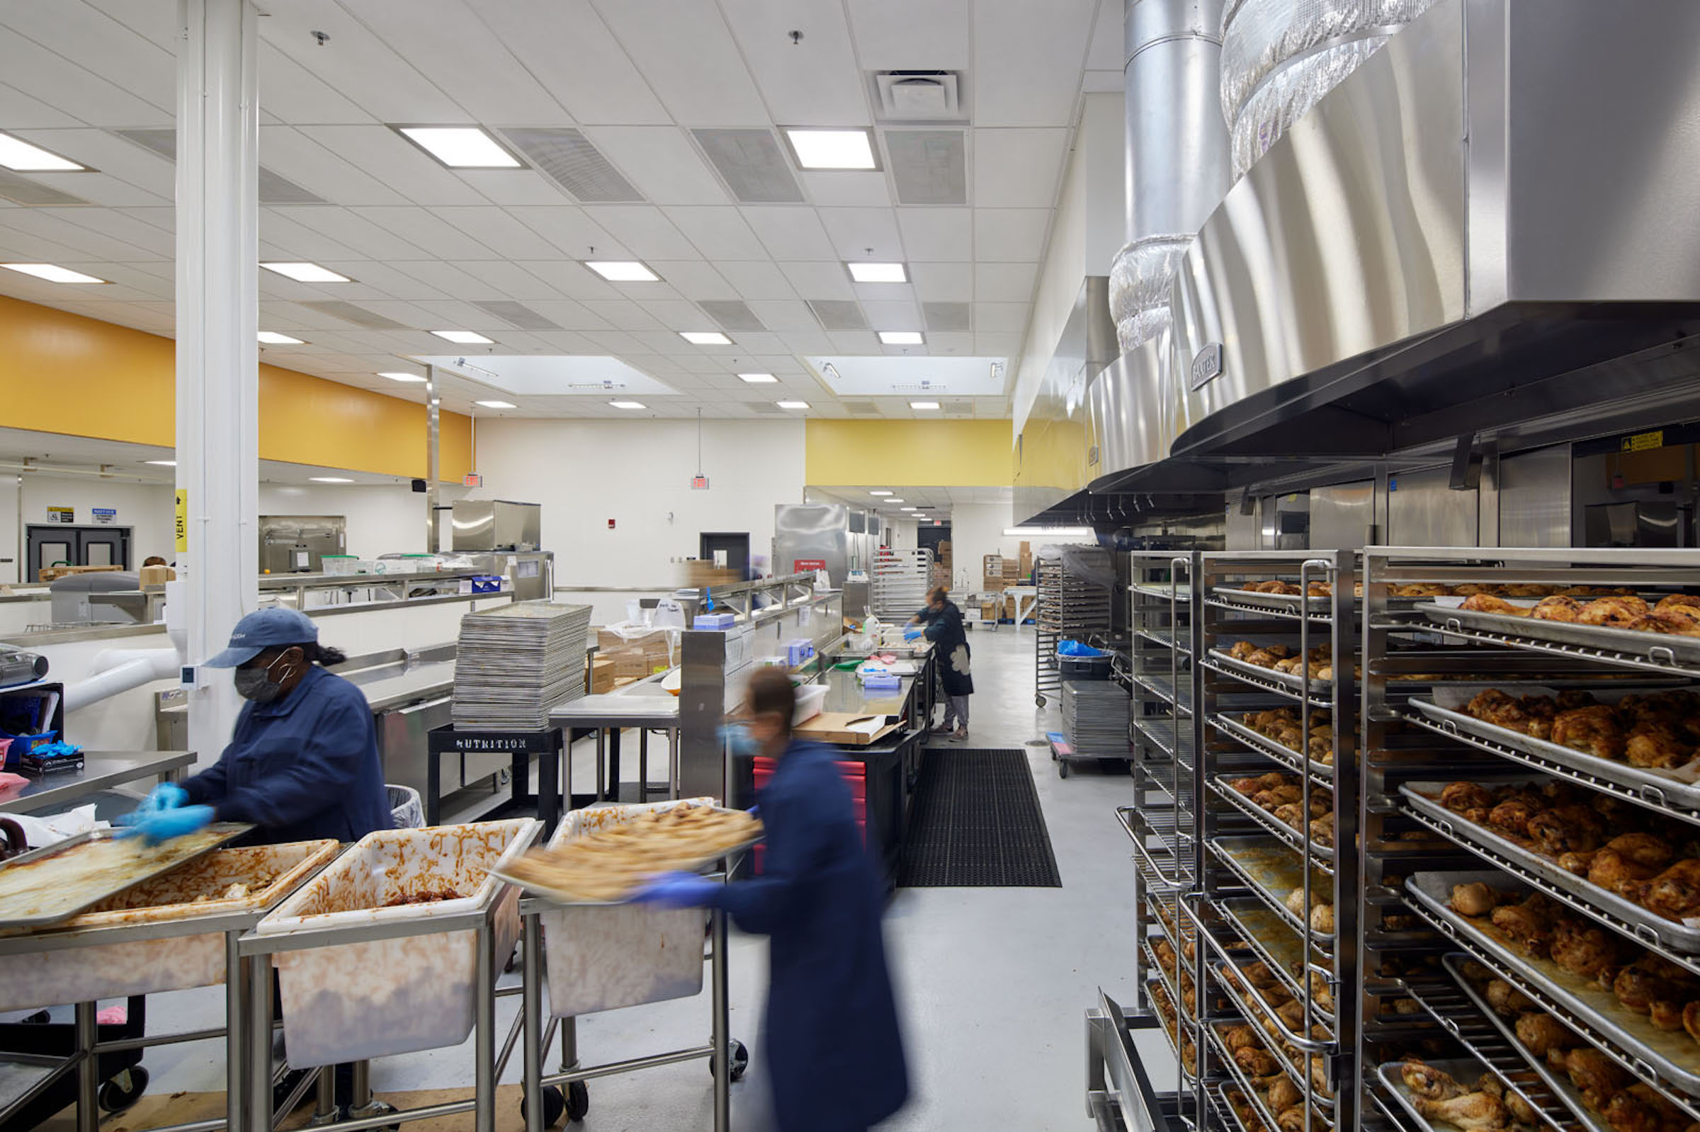
[[[542,549],[561,586],[675,585],[670,559],[695,558],[704,530],[748,530],[770,554],[774,505],[802,500],[804,425],[685,420],[486,420],[473,498],[542,503]],[[614,529],[609,529],[614,520]]]

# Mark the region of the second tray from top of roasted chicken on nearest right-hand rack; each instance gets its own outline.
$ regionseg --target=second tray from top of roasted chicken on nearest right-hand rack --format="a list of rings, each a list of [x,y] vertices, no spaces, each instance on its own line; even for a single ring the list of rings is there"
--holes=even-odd
[[[1445,729],[1598,775],[1656,802],[1700,809],[1695,692],[1477,688],[1435,688],[1409,704]]]

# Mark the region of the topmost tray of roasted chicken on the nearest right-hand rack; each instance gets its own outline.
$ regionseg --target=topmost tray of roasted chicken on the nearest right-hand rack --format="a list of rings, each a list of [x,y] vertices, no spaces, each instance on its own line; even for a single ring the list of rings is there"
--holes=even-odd
[[[1700,595],[1695,593],[1668,593],[1654,603],[1632,593],[1596,598],[1557,593],[1533,605],[1476,593],[1457,607],[1423,602],[1416,610],[1442,627],[1457,622],[1465,629],[1630,653],[1651,661],[1666,656],[1700,661]]]

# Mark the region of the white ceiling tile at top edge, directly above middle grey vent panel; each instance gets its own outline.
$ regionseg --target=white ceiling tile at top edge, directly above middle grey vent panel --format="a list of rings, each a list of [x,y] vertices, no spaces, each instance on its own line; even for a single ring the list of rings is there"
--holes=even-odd
[[[673,121],[683,126],[767,121],[767,107],[719,5],[617,0],[598,10]],[[775,39],[789,27],[775,25]]]

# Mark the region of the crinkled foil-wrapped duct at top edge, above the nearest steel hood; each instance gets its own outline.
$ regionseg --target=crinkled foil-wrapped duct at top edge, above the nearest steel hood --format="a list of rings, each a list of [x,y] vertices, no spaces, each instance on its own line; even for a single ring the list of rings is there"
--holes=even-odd
[[[1234,178],[1433,0],[1232,0],[1222,15],[1222,119]]]

